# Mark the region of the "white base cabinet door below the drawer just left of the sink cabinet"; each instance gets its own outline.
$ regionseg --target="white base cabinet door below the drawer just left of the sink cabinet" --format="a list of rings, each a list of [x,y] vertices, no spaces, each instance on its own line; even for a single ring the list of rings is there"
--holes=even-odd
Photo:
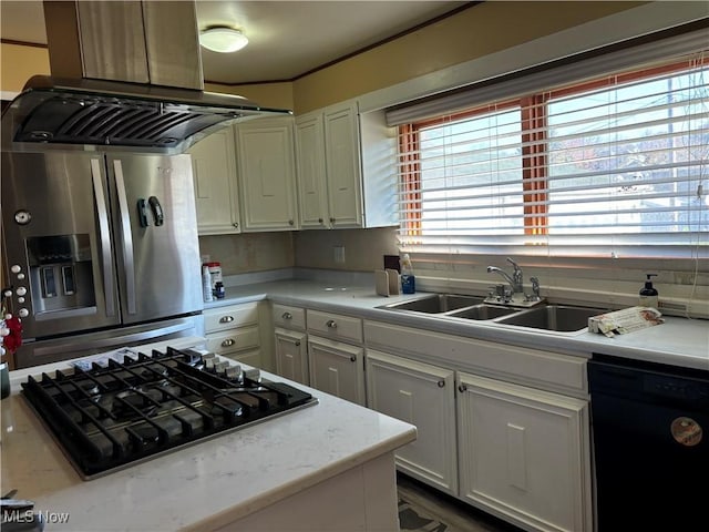
[[[361,347],[309,336],[310,386],[363,406],[363,356]]]

